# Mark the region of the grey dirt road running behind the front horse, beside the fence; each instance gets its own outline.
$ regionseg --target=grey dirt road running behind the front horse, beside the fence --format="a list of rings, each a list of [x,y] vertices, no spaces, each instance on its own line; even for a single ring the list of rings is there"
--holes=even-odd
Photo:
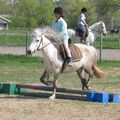
[[[98,49],[98,59],[100,59],[100,50]],[[13,47],[13,46],[0,46],[1,54],[15,54],[15,55],[25,55],[25,47]],[[42,56],[41,52],[34,53],[33,56]],[[119,49],[103,49],[101,51],[101,59],[104,60],[120,60],[120,50]]]

